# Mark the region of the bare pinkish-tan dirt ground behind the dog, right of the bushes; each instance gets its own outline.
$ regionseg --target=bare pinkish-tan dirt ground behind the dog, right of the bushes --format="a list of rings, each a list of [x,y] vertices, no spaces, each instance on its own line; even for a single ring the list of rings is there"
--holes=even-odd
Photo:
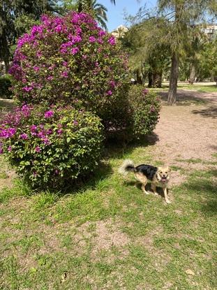
[[[162,95],[164,99],[166,94]],[[179,106],[183,102],[188,106]],[[163,105],[161,109],[160,121],[154,131],[156,158],[170,166],[204,168],[206,163],[216,161],[213,154],[217,152],[217,92],[180,90],[177,105]],[[177,175],[174,183],[181,181]]]

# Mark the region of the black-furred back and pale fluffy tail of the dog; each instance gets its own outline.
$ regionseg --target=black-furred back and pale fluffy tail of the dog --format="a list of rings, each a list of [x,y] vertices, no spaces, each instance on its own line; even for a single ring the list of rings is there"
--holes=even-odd
[[[119,173],[126,175],[128,172],[133,173],[142,173],[149,180],[153,180],[154,175],[158,171],[158,168],[148,164],[140,164],[138,166],[134,166],[133,161],[125,160],[122,166],[119,168]]]

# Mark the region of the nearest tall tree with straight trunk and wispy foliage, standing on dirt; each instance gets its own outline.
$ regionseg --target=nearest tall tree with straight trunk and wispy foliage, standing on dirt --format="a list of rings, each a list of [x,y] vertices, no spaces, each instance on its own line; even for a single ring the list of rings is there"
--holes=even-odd
[[[216,13],[214,0],[158,0],[162,17],[172,22],[167,39],[172,50],[170,89],[167,103],[174,105],[177,97],[177,81],[179,77],[179,58],[181,50],[186,49],[193,34],[200,29],[208,15]]]

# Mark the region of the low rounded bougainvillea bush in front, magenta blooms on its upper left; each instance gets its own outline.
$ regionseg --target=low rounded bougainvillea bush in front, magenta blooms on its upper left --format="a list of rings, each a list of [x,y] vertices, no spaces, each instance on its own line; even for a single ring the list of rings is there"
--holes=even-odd
[[[96,168],[102,125],[69,106],[24,105],[1,123],[0,140],[0,153],[32,187],[59,188]]]

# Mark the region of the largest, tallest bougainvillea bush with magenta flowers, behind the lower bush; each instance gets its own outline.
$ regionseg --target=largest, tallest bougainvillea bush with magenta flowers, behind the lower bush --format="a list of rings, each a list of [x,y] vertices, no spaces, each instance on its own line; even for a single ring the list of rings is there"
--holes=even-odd
[[[117,99],[126,99],[126,57],[114,36],[86,13],[44,15],[17,42],[10,73],[17,80],[13,92],[20,103],[82,102],[104,120]]]

